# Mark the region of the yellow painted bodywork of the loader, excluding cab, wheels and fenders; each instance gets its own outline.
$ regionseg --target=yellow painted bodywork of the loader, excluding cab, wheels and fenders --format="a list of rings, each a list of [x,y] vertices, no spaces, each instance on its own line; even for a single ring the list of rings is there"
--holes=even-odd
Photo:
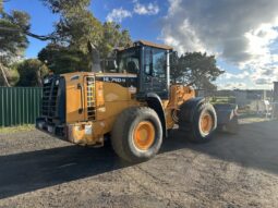
[[[99,81],[102,76],[126,76],[130,74],[64,74],[67,83],[67,126],[68,139],[82,145],[102,145],[104,135],[111,132],[117,117],[126,108],[147,106],[136,100],[136,88],[122,86],[120,83]],[[134,75],[133,75],[134,76]],[[86,78],[92,77],[92,83]],[[117,79],[116,79],[117,81]],[[83,94],[77,87],[83,87]],[[172,85],[169,100],[162,100],[167,129],[177,123],[174,117],[179,106],[195,97],[191,87]],[[83,101],[83,103],[82,103]],[[88,117],[88,107],[94,107],[94,119]],[[83,109],[80,112],[80,109]],[[123,124],[124,125],[124,124]]]

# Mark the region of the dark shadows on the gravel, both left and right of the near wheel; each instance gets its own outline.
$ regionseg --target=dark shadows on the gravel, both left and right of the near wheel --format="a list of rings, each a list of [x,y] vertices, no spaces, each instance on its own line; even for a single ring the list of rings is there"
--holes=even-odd
[[[160,154],[192,149],[278,174],[277,135],[278,122],[261,122],[242,125],[239,135],[217,134],[210,143],[196,145],[188,143],[179,131],[172,131]],[[98,149],[67,146],[1,156],[0,199],[129,166],[110,146]]]

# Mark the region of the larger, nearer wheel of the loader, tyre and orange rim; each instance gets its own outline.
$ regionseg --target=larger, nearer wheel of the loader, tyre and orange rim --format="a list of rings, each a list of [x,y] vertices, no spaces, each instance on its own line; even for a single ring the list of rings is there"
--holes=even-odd
[[[153,158],[161,143],[161,123],[150,108],[125,109],[114,122],[111,144],[116,154],[126,161],[141,162]]]

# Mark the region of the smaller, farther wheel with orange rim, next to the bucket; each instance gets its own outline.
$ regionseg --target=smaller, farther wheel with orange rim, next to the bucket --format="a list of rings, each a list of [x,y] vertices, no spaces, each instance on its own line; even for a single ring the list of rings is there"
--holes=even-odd
[[[190,118],[180,119],[181,117],[189,115],[192,115],[191,121],[189,121]],[[217,117],[210,103],[203,102],[195,109],[181,108],[179,117],[179,127],[181,131],[188,133],[190,140],[194,143],[206,143],[211,139],[217,127]]]

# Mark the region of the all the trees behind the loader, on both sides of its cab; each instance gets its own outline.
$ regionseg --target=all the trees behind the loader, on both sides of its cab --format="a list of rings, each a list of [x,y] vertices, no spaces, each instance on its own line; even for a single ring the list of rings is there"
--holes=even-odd
[[[90,71],[92,59],[87,42],[93,42],[102,59],[116,47],[129,47],[129,30],[114,22],[101,23],[89,11],[90,0],[40,0],[59,15],[50,34],[34,34],[31,16],[24,11],[8,13],[0,0],[0,86],[41,86],[41,77],[49,71],[67,73]],[[94,3],[94,2],[93,2]],[[37,59],[25,59],[28,38],[47,41]],[[214,56],[201,52],[174,54],[171,58],[172,82],[182,82],[197,88],[214,88],[223,73],[216,66]]]

